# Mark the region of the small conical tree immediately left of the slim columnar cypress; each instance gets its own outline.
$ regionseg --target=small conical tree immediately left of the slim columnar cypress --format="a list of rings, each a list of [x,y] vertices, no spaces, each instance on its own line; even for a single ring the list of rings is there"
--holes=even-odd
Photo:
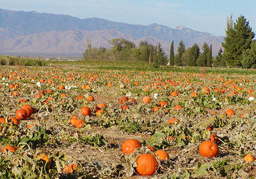
[[[161,43],[158,43],[154,52],[153,63],[155,66],[165,65],[168,63],[168,57],[161,47]]]

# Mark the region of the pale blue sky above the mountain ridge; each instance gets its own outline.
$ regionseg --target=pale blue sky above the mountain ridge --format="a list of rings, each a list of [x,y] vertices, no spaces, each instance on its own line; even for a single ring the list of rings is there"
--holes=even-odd
[[[0,8],[14,11],[66,14],[78,18],[98,17],[127,23],[185,26],[216,36],[225,36],[226,18],[245,16],[256,32],[256,0],[0,0]]]

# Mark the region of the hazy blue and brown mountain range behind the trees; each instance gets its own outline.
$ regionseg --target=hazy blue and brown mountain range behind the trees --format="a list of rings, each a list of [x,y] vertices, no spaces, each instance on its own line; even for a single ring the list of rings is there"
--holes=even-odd
[[[212,44],[215,55],[224,38],[184,26],[172,29],[158,24],[131,25],[36,11],[0,9],[0,22],[0,53],[9,55],[81,57],[89,38],[92,47],[105,48],[111,47],[109,40],[113,38],[125,38],[137,46],[141,40],[154,45],[160,42],[166,54],[173,40],[175,51],[181,40],[186,48],[194,43],[202,47],[206,42]]]

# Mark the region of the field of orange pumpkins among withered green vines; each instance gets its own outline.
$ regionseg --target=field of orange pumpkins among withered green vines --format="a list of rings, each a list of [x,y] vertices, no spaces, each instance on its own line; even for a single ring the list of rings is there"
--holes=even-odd
[[[254,178],[256,71],[0,67],[1,178]]]

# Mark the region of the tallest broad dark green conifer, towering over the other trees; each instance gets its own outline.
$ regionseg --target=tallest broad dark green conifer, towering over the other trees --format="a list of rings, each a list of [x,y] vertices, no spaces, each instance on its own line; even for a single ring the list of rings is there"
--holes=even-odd
[[[242,53],[250,48],[255,34],[244,16],[240,15],[233,23],[232,14],[227,18],[226,37],[222,47],[224,48],[223,59],[227,66],[241,66]]]

